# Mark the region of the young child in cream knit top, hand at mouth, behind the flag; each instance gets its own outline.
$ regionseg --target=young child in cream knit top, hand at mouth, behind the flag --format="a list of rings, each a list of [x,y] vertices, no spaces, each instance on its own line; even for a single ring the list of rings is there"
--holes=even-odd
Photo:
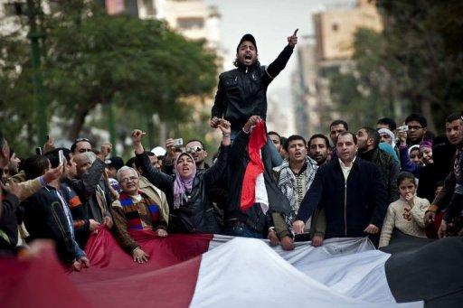
[[[383,222],[379,247],[389,245],[394,228],[413,237],[426,238],[423,217],[430,201],[416,196],[417,185],[411,173],[399,173],[397,186],[401,197],[389,205]]]

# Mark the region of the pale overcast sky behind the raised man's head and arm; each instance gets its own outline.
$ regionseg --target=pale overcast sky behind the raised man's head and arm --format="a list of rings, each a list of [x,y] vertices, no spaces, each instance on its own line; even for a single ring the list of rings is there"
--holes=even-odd
[[[324,7],[353,4],[354,0],[205,0],[222,14],[222,46],[225,70],[233,69],[236,45],[245,33],[254,35],[262,65],[268,65],[283,50],[287,37],[299,29],[298,37],[313,34],[312,14]],[[296,47],[298,48],[298,46]],[[269,87],[269,94],[289,90],[291,72],[297,64],[291,56],[288,66]],[[286,92],[286,91],[285,91]],[[289,94],[289,92],[287,92]]]

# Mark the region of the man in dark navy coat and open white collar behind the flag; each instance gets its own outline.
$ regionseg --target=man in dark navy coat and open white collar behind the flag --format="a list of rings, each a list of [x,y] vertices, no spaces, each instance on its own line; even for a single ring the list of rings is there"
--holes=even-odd
[[[356,155],[354,134],[338,135],[338,158],[322,165],[302,201],[293,229],[304,231],[317,207],[326,212],[326,229],[317,229],[321,238],[356,238],[377,235],[388,206],[380,169]]]

